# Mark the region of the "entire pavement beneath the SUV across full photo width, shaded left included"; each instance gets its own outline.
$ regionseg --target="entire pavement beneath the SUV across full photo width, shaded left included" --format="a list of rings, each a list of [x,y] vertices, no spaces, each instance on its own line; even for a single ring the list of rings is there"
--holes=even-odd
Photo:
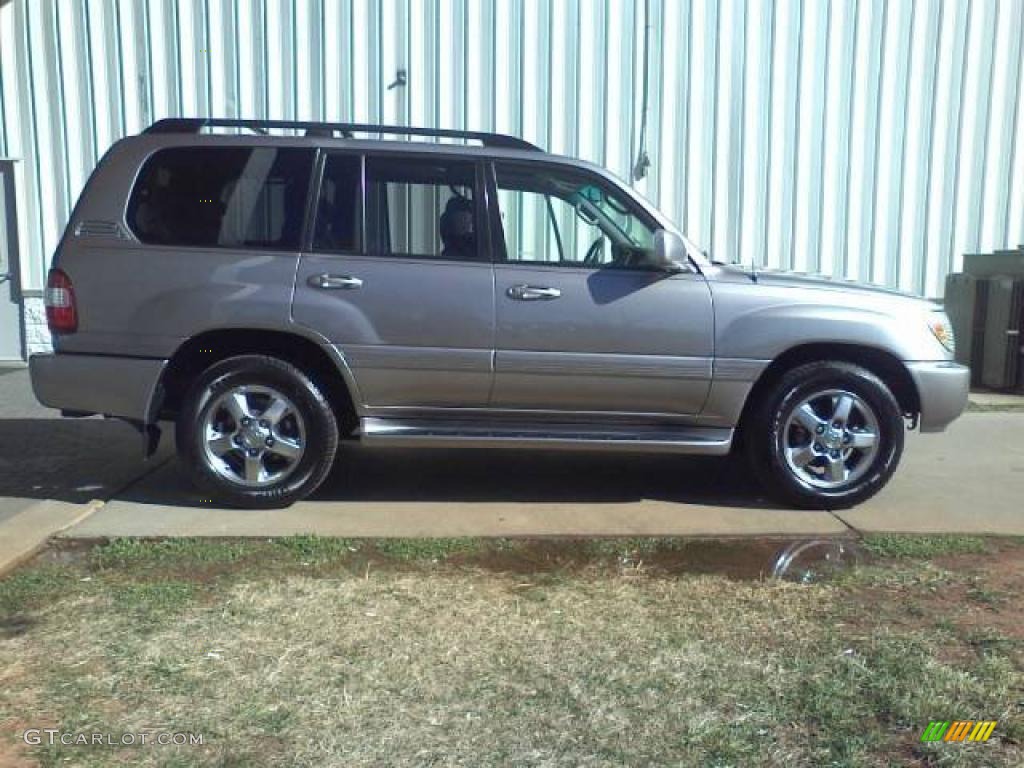
[[[72,538],[1024,536],[1021,412],[968,413],[944,434],[910,433],[889,486],[838,514],[773,505],[732,460],[357,446],[309,501],[219,510],[191,488],[170,439],[145,464],[128,426],[54,416],[35,406],[24,371],[0,377],[0,562],[57,528]]]

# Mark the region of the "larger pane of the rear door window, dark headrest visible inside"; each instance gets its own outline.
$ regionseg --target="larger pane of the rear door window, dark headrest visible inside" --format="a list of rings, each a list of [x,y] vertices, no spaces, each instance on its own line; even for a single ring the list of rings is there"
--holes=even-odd
[[[444,158],[368,158],[367,228],[372,254],[481,257],[475,169]]]

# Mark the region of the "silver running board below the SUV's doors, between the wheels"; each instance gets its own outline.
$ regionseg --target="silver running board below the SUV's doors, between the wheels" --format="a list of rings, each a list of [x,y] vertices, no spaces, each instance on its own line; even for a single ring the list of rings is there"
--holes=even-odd
[[[732,430],[665,425],[588,427],[582,424],[503,424],[428,419],[360,420],[360,441],[408,447],[494,447],[636,451],[724,456]]]

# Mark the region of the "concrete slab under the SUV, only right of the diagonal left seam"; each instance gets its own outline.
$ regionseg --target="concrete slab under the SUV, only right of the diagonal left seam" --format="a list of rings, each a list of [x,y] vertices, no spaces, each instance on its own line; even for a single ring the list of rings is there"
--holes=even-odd
[[[66,536],[1024,535],[1024,414],[969,413],[907,436],[903,462],[851,510],[782,509],[733,460],[348,449],[309,501],[215,510],[169,461]]]

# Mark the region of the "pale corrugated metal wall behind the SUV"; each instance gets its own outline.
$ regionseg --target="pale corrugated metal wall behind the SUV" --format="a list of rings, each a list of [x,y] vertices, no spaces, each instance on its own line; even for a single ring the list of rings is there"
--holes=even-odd
[[[158,118],[493,129],[629,176],[646,114],[637,186],[717,257],[940,295],[964,252],[1024,242],[1022,18],[1024,0],[0,0],[23,283],[106,146]]]

